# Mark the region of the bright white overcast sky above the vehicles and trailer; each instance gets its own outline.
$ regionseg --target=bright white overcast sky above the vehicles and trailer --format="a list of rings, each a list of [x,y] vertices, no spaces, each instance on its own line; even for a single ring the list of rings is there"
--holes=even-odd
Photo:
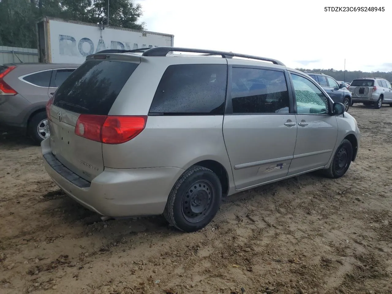
[[[174,45],[275,58],[288,67],[392,71],[392,1],[135,0]],[[345,3],[345,4],[343,4]],[[325,12],[325,6],[385,7]]]

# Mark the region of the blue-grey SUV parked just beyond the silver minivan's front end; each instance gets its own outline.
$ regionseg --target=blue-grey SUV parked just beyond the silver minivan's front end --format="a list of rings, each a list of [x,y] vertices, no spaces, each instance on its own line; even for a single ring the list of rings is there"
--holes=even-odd
[[[323,73],[311,73],[307,71],[305,73],[323,87],[334,102],[343,103],[345,110],[348,111],[351,105],[351,93],[345,89],[343,84],[339,84],[332,76],[327,76]]]

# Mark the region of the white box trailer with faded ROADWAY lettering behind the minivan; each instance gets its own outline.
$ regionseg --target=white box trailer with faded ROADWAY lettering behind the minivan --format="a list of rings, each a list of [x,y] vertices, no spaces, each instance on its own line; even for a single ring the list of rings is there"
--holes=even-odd
[[[106,50],[174,46],[171,34],[44,17],[37,22],[38,56],[44,63],[82,64]]]

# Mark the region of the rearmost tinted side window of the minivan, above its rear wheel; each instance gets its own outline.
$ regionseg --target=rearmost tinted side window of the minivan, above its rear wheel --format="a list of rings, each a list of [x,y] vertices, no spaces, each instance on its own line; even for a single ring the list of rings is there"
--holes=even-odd
[[[167,67],[152,100],[151,114],[223,114],[227,65]]]

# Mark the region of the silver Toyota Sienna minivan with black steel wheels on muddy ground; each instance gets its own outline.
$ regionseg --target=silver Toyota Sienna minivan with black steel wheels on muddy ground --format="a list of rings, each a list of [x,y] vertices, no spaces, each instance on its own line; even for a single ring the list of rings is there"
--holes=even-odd
[[[316,170],[343,176],[360,145],[356,120],[307,74],[230,52],[96,53],[46,109],[44,166],[62,190],[102,216],[163,213],[187,232],[222,196]]]

